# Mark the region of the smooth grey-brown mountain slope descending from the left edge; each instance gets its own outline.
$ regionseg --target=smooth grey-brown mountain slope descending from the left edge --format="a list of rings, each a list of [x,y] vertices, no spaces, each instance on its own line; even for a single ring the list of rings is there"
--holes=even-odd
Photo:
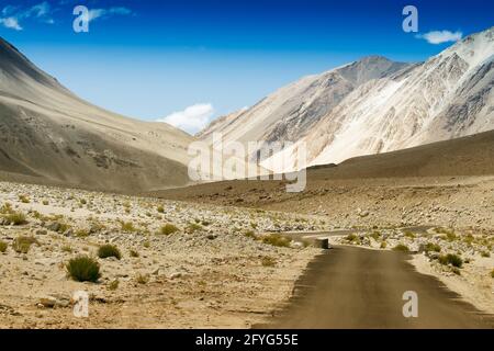
[[[0,179],[115,191],[182,185],[192,140],[91,105],[0,39]]]

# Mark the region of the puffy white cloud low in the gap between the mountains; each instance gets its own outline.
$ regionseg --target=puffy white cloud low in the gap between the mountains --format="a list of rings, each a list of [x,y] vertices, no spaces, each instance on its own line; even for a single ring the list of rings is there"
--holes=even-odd
[[[157,122],[166,122],[175,127],[193,134],[204,128],[213,114],[214,107],[211,103],[198,103],[183,111],[173,112]]]

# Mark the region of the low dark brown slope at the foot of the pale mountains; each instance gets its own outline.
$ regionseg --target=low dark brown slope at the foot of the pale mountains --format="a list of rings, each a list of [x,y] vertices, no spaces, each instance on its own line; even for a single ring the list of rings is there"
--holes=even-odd
[[[384,152],[380,155],[361,156],[346,160],[340,165],[326,165],[307,169],[307,188],[300,194],[287,193],[284,183],[280,181],[235,180],[216,183],[198,184],[183,189],[170,189],[153,192],[155,196],[180,201],[200,201],[215,204],[240,204],[242,206],[262,206],[281,201],[294,203],[288,208],[293,211],[295,203],[312,203],[317,208],[323,202],[319,195],[328,193],[334,188],[324,204],[338,205],[337,196],[348,195],[350,207],[357,208],[361,203],[353,199],[355,193],[345,191],[345,185],[363,186],[362,196],[374,203],[379,196],[370,196],[369,184],[379,184],[379,191],[385,191],[402,183],[415,184],[412,190],[452,181],[456,178],[476,177],[491,179],[494,176],[494,131],[451,140],[437,141],[408,149]],[[415,179],[416,178],[416,179]],[[398,185],[398,192],[404,191]],[[228,191],[224,191],[227,189]],[[451,185],[456,192],[456,186]],[[489,197],[490,193],[485,193]],[[427,194],[430,201],[435,201]],[[242,201],[238,201],[242,199]],[[413,199],[409,197],[409,199]],[[489,197],[491,199],[491,197]],[[315,205],[314,205],[315,204]],[[401,208],[403,203],[395,208]],[[299,208],[299,207],[296,207]],[[346,213],[346,215],[348,212]],[[492,217],[492,216],[491,216]],[[361,218],[360,218],[361,219]]]

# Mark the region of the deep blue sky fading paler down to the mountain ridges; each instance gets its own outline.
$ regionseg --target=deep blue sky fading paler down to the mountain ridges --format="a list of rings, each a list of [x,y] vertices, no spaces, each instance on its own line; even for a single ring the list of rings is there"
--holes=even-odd
[[[77,4],[92,11],[89,33],[72,30]],[[143,120],[177,112],[195,132],[302,76],[367,55],[424,60],[451,45],[405,33],[407,4],[422,35],[494,25],[486,0],[0,0],[0,35],[94,104]]]

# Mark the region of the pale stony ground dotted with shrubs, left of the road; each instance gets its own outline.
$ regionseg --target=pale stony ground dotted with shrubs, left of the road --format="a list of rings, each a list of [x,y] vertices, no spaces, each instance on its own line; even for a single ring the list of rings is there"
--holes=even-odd
[[[318,252],[258,234],[328,228],[311,216],[8,182],[0,206],[0,328],[248,327]],[[105,244],[122,258],[97,258]],[[97,258],[97,283],[67,275],[79,256]],[[90,294],[89,318],[72,314],[76,291]]]

